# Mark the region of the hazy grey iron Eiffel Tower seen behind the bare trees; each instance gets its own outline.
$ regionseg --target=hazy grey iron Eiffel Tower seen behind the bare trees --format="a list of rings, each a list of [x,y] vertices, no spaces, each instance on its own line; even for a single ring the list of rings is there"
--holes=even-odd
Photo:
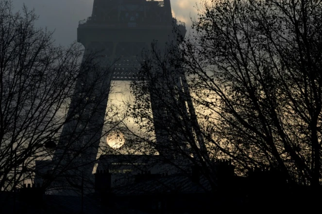
[[[105,119],[111,81],[134,80],[136,70],[133,68],[140,67],[137,56],[141,55],[143,48],[149,49],[151,43],[155,40],[158,42],[160,49],[165,47],[165,44],[169,42],[169,38],[174,38],[172,32],[173,25],[181,31],[182,35],[186,34],[184,23],[177,23],[176,19],[172,17],[170,0],[94,0],[91,17],[79,22],[77,39],[85,47],[85,53],[102,50],[101,54],[104,57],[99,58],[98,61],[101,67],[113,64],[116,59],[119,59],[113,70],[110,70],[107,74],[98,75],[101,82],[97,83],[96,89],[94,89],[97,93],[94,93],[94,97],[90,98],[100,101],[99,105],[95,108],[95,112],[92,109],[88,109],[88,115],[95,115],[92,115],[92,119],[87,121],[85,126],[99,128],[94,128],[95,131],[89,132],[89,135],[75,139],[72,145],[73,148],[77,149],[84,146],[82,143],[86,141],[91,142],[90,148],[87,148],[77,157],[78,164],[84,162],[83,167],[85,168],[85,170],[81,170],[83,174],[79,176],[91,177],[100,146],[100,138],[102,138],[102,124]],[[68,113],[75,111],[79,107],[79,101],[84,99],[82,93],[84,89],[82,86],[86,84],[86,81],[91,81],[91,78],[92,81],[96,81],[93,77],[88,76],[78,80],[78,88],[76,87]],[[181,90],[188,92],[186,77],[181,75],[179,79]],[[103,96],[100,92],[103,92]],[[169,142],[169,139],[162,131],[162,127],[158,126],[158,123],[164,120],[162,116],[164,109],[160,109],[158,100],[153,96],[151,96],[151,106],[156,142],[162,148],[163,144]],[[195,114],[192,100],[189,96],[184,98],[181,110],[187,114],[190,113],[190,115]],[[84,112],[83,114],[86,115]],[[194,123],[197,124],[195,127],[198,128],[197,119],[195,118],[194,120]],[[78,126],[82,126],[82,124],[66,123],[62,135],[68,136]],[[198,135],[198,130],[196,130],[196,134],[199,142],[202,144],[203,139],[201,135]],[[61,139],[57,146],[60,149],[57,149],[53,155],[53,165],[58,165],[59,161],[62,162],[59,158],[67,149],[64,145],[64,140]],[[160,153],[162,152],[168,153],[166,149],[164,151],[161,149]],[[91,165],[86,165],[85,163],[91,163]],[[64,163],[61,165],[64,165]],[[79,169],[80,167],[76,166],[76,168]],[[69,174],[72,176],[73,172]]]

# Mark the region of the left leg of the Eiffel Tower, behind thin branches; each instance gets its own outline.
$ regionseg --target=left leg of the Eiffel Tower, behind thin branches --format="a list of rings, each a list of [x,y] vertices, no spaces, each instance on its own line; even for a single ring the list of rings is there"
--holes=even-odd
[[[79,76],[66,124],[52,159],[53,174],[61,177],[56,179],[59,182],[55,182],[54,186],[77,189],[84,177],[83,186],[88,187],[85,193],[92,188],[92,170],[102,138],[111,73],[100,66],[93,66]]]

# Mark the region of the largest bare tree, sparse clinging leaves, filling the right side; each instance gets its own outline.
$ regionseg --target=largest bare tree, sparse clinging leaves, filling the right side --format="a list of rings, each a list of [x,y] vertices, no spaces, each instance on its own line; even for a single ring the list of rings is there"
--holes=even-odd
[[[188,157],[175,145],[185,142],[194,157],[232,158],[240,174],[271,167],[289,183],[320,185],[321,2],[214,0],[198,9],[195,32],[185,40],[179,35],[181,46],[167,56],[153,51],[142,62],[142,76],[159,77],[150,85],[134,82],[136,118],[150,122],[145,130],[153,132],[149,91],[172,115],[163,127],[175,153]],[[180,112],[169,72],[186,74],[207,155],[189,133],[195,116]],[[168,83],[172,88],[158,88]]]

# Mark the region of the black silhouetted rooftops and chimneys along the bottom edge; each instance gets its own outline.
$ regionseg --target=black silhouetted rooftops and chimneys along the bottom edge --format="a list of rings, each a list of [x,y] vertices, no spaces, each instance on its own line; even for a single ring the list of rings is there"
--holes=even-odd
[[[318,209],[321,189],[291,185],[277,170],[256,169],[247,177],[232,173],[225,163],[213,189],[198,169],[190,175],[134,175],[134,182],[111,187],[111,173],[95,174],[95,192],[85,196],[48,195],[36,185],[1,192],[4,214],[199,214],[222,212],[309,212]]]

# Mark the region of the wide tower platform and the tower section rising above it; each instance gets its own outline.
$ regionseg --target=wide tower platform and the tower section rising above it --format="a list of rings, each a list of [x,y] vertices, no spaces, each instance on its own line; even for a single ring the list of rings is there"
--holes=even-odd
[[[170,0],[94,0],[93,12],[79,21],[77,40],[85,47],[96,42],[166,42],[186,25],[171,14]]]

